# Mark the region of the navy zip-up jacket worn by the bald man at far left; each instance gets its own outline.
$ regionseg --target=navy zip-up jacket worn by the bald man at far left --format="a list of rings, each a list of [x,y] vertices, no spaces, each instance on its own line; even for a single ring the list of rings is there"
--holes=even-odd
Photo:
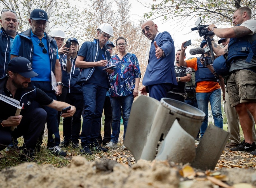
[[[17,33],[18,35],[18,33]],[[6,74],[9,59],[10,50],[10,38],[4,28],[1,27],[0,30],[0,78]]]

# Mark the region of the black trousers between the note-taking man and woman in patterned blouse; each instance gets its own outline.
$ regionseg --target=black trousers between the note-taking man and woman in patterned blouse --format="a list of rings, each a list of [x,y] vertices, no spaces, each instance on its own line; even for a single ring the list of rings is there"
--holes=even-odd
[[[101,134],[99,132],[99,136],[97,138],[99,143],[106,144],[111,139],[111,128],[112,128],[112,108],[111,108],[111,102],[110,97],[106,96],[105,102],[104,102],[104,136],[103,139],[101,137]],[[101,131],[101,127],[100,127]]]

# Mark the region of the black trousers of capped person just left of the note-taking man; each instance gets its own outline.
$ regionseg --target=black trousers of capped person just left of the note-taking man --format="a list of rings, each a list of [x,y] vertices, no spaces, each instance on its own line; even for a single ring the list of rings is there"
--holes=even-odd
[[[64,141],[79,143],[81,130],[81,114],[83,111],[82,93],[67,93],[66,103],[76,107],[76,112],[72,117],[63,118],[63,137]]]

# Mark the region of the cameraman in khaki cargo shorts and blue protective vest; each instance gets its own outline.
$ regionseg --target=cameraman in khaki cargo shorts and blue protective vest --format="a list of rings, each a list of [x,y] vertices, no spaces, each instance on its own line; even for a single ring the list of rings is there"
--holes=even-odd
[[[232,28],[217,28],[214,24],[208,26],[208,30],[221,38],[230,38],[230,42],[223,49],[214,41],[213,51],[217,56],[226,54],[227,60],[220,61],[218,57],[214,67],[225,63],[229,68],[227,78],[227,90],[230,103],[235,107],[239,115],[245,140],[232,151],[252,151],[256,155],[256,145],[252,136],[252,119],[256,119],[256,20],[251,19],[252,11],[248,7],[240,7],[234,11]]]

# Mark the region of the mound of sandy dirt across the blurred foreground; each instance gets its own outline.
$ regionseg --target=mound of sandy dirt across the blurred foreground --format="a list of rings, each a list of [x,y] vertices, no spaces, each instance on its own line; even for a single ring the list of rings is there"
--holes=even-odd
[[[252,169],[225,169],[214,173],[211,176],[209,172],[199,172],[189,165],[170,165],[167,161],[139,160],[128,167],[113,160],[88,162],[81,156],[74,156],[63,168],[23,163],[4,169],[0,172],[0,187],[212,188],[219,185],[218,181],[225,181],[226,187],[240,183],[250,187],[256,185],[256,172]],[[220,181],[220,177],[225,180]]]

